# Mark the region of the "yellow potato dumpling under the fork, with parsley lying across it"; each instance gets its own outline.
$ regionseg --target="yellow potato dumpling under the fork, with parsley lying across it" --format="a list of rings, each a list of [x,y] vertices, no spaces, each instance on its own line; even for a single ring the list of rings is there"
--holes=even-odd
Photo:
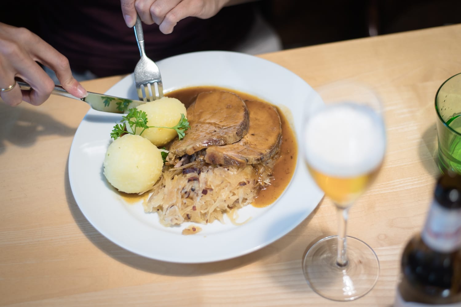
[[[138,106],[137,109],[146,112],[148,126],[174,127],[181,119],[181,114],[187,117],[183,103],[170,97],[147,102]],[[141,131],[142,129],[136,128],[136,134],[140,134]],[[177,132],[174,129],[149,128],[142,132],[141,136],[155,146],[162,147],[177,137]]]

